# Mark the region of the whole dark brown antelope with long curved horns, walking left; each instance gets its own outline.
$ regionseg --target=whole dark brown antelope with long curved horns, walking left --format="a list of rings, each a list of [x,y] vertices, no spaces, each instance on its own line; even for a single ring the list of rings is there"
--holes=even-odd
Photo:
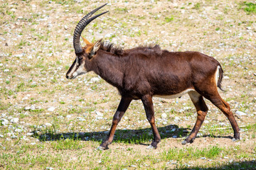
[[[224,113],[234,130],[233,140],[240,140],[238,123],[230,111],[229,104],[218,93],[218,88],[221,89],[223,69],[213,57],[201,52],[169,52],[161,50],[159,45],[123,50],[102,39],[92,43],[82,38],[86,44],[82,47],[80,42],[82,30],[95,18],[108,12],[92,16],[105,5],[87,13],[75,27],[73,46],[76,58],[66,74],[67,79],[75,79],[81,74],[92,71],[119,91],[121,101],[114,113],[110,132],[97,149],[108,149],[108,145],[113,141],[117,124],[129,104],[132,100],[139,99],[144,105],[146,118],[154,134],[154,139],[147,148],[156,149],[161,137],[156,128],[152,98],[154,96],[177,98],[183,94],[188,94],[197,111],[196,124],[188,137],[181,142],[183,145],[195,140],[206,118],[208,107],[203,98],[208,99]]]

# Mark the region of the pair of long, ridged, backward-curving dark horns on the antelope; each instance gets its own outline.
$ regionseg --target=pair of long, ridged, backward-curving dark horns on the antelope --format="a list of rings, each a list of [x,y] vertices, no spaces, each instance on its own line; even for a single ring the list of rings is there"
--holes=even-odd
[[[82,45],[80,42],[80,36],[82,33],[82,30],[85,29],[85,27],[95,18],[97,18],[98,16],[103,15],[104,13],[107,13],[108,11],[104,12],[104,13],[100,13],[97,16],[93,16],[92,18],[89,18],[90,16],[92,16],[93,13],[95,13],[96,11],[98,11],[100,8],[102,8],[103,6],[105,6],[107,4],[104,4],[102,6],[100,6],[99,8],[95,8],[95,10],[90,11],[90,13],[87,13],[86,16],[84,16],[78,23],[78,25],[75,27],[75,31],[74,31],[74,35],[73,35],[73,45],[75,48],[75,54],[78,54],[80,52],[82,52]]]

